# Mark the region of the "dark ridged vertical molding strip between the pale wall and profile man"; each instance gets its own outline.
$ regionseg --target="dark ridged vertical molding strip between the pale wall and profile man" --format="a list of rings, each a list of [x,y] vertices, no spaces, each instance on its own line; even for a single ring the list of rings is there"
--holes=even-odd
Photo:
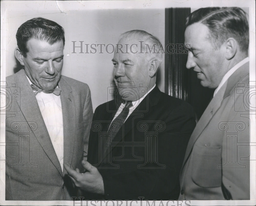
[[[165,46],[172,44],[165,54],[165,93],[184,101],[189,101],[190,89],[190,71],[186,69],[187,54],[184,52],[188,14],[190,8],[165,9]]]

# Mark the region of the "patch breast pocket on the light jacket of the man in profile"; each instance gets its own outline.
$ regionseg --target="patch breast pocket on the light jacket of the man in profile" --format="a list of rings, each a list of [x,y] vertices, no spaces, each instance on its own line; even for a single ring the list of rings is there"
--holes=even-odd
[[[191,178],[200,187],[221,186],[221,147],[194,145]]]

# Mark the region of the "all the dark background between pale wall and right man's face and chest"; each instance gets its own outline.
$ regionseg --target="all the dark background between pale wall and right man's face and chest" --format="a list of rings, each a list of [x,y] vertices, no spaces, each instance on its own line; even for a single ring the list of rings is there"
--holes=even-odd
[[[165,47],[168,44],[184,44],[186,17],[190,11],[190,8],[165,9]],[[199,120],[212,98],[214,89],[203,87],[196,72],[186,68],[186,53],[180,54],[177,47],[174,51],[166,51],[165,54],[165,93],[190,103]]]

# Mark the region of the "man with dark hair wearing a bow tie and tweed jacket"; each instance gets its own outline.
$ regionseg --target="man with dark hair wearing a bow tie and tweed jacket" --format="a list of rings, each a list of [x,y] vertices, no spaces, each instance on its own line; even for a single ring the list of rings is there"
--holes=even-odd
[[[34,18],[16,34],[24,69],[6,78],[6,200],[71,200],[63,163],[86,159],[92,120],[87,84],[61,75],[64,30]],[[7,105],[8,106],[8,105]]]

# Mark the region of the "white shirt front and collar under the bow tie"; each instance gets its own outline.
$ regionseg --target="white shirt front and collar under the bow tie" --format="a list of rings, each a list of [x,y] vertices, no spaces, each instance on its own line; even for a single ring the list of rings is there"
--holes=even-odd
[[[27,79],[31,85],[32,82],[28,77]],[[37,93],[36,100],[63,171],[64,140],[60,95],[57,96],[54,93],[41,91]]]

